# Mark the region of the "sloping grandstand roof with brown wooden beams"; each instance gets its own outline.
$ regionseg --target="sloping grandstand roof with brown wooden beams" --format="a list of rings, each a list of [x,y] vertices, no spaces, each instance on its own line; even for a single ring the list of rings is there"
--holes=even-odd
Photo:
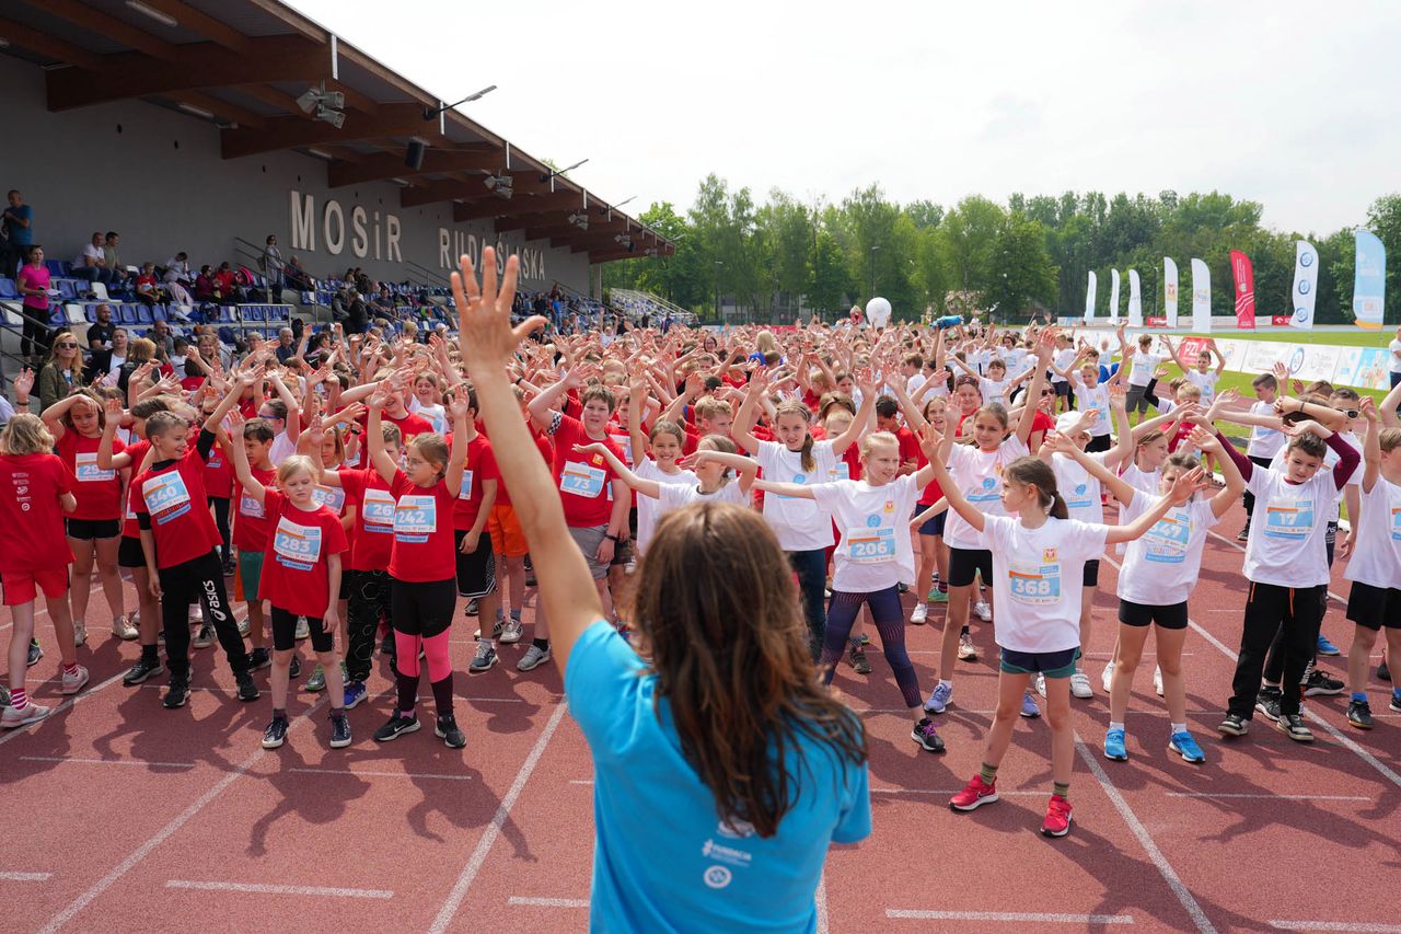
[[[462,114],[425,119],[444,101],[277,0],[11,0],[0,50],[45,69],[50,111],[142,98],[213,122],[224,158],[297,150],[325,160],[329,188],[394,181],[403,208],[453,202],[454,222],[492,220],[590,262],[675,251]],[[340,128],[297,105],[322,81],[345,94]],[[413,140],[427,144],[419,170],[405,163]],[[511,177],[511,198],[492,175]]]

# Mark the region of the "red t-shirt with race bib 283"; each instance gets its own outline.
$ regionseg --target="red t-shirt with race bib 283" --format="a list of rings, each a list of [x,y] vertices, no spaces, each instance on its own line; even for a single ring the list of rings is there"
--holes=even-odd
[[[331,567],[326,558],[346,550],[340,516],[325,506],[297,509],[282,492],[263,498],[272,534],[263,553],[258,599],[279,610],[321,618],[331,600]]]

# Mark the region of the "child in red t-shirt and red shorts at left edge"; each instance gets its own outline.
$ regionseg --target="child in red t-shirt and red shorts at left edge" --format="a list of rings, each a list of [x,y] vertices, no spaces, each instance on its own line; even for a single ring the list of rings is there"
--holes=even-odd
[[[10,704],[0,715],[6,729],[43,719],[50,711],[31,703],[24,689],[38,590],[43,590],[63,652],[62,693],[76,694],[88,680],[87,669],[77,663],[73,642],[67,600],[73,553],[63,536],[63,513],[77,506],[73,495],[77,480],[62,460],[48,453],[52,447],[53,435],[28,412],[11,418],[0,435],[0,586],[14,620]]]

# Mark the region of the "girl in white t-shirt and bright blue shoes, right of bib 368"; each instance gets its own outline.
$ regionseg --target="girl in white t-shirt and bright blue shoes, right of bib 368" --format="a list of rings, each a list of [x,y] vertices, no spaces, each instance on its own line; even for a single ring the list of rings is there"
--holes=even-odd
[[[1222,445],[1230,442],[1198,428],[1192,435],[1192,443],[1196,449],[1220,457],[1226,487],[1210,499],[1194,499],[1184,508],[1171,509],[1146,536],[1128,544],[1124,569],[1118,579],[1118,659],[1110,687],[1110,728],[1104,736],[1104,756],[1117,762],[1129,757],[1125,747],[1124,718],[1133,689],[1133,673],[1143,656],[1150,625],[1156,627],[1153,638],[1163,677],[1160,693],[1167,701],[1171,725],[1167,747],[1191,763],[1206,759],[1187,729],[1187,683],[1182,677],[1187,599],[1196,586],[1201,572],[1206,532],[1216,526],[1226,510],[1245,492],[1245,480],[1236,468],[1236,461],[1222,453]],[[1159,494],[1171,489],[1178,477],[1196,467],[1192,456],[1173,454],[1163,466],[1159,488],[1147,494],[1087,463],[1082,456],[1076,457],[1124,503],[1121,515],[1128,520],[1149,509]]]

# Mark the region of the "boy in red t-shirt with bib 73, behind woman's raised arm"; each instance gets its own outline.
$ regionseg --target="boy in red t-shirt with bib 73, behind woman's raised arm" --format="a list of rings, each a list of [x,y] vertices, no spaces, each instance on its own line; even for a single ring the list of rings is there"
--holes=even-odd
[[[632,491],[616,477],[601,454],[584,456],[574,452],[576,445],[598,442],[608,447],[618,460],[623,460],[622,449],[608,438],[608,419],[616,408],[614,394],[605,386],[590,386],[579,395],[580,419],[555,410],[555,402],[566,390],[580,384],[579,376],[570,370],[565,379],[541,391],[531,400],[528,411],[531,421],[555,442],[555,485],[565,506],[565,523],[569,534],[584,554],[594,586],[604,603],[604,613],[612,617],[612,600],[608,593],[608,568],[615,548],[629,540],[628,510],[632,506]],[[549,621],[544,607],[535,610],[535,638],[516,669],[528,672],[544,665],[549,655]]]

